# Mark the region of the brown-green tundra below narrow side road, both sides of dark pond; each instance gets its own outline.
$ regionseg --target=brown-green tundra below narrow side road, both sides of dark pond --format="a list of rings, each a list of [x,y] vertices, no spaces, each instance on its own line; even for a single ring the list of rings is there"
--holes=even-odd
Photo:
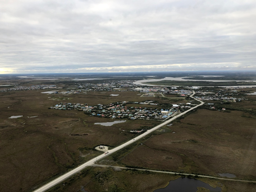
[[[53,187],[47,192],[60,191],[154,191],[163,188],[169,181],[177,179],[179,175],[147,172],[136,169],[119,169],[107,167],[88,167],[80,173]],[[197,178],[212,187],[221,187],[222,192],[254,191],[255,183]],[[199,191],[209,191],[200,188]]]

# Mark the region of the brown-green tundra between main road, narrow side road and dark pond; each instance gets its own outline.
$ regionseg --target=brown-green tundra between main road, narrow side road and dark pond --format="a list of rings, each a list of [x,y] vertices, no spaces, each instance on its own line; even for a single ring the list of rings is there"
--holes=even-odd
[[[165,187],[170,180],[179,176],[151,173],[131,169],[89,167],[72,176],[48,192],[60,191],[130,191],[148,192]],[[63,185],[65,184],[65,185]],[[83,190],[81,190],[83,191]]]

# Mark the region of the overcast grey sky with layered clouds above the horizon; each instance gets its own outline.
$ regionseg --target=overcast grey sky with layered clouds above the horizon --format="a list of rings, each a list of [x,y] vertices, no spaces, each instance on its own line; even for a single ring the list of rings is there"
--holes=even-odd
[[[1,0],[0,73],[256,70],[255,0]]]

